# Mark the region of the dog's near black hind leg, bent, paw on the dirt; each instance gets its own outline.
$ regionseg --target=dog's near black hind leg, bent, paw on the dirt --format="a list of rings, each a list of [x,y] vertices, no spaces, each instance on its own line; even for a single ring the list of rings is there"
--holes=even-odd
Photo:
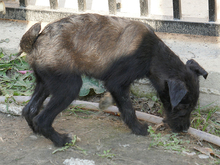
[[[54,130],[52,123],[55,117],[67,108],[78,96],[82,86],[82,79],[79,75],[48,75],[46,81],[50,83],[52,97],[43,111],[34,117],[34,129],[50,139],[55,146],[64,146],[71,141],[67,134],[60,134]]]

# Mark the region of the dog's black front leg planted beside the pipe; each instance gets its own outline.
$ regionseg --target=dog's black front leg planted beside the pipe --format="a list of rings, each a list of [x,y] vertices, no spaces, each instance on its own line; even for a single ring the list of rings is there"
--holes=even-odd
[[[123,121],[127,126],[132,130],[136,135],[147,135],[148,134],[148,125],[142,124],[138,121],[135,110],[132,107],[132,102],[129,95],[129,86],[116,86],[116,83],[112,86],[106,86],[106,88],[111,93],[114,98]]]

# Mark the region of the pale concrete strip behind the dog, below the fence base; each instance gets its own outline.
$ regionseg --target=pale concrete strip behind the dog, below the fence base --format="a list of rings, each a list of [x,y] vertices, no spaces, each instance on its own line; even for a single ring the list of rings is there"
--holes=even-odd
[[[17,53],[25,31],[35,22],[0,19],[0,49],[6,54]],[[46,23],[43,23],[43,26]],[[200,105],[220,106],[220,37],[157,33],[157,35],[186,62],[195,59],[209,72],[201,77]]]

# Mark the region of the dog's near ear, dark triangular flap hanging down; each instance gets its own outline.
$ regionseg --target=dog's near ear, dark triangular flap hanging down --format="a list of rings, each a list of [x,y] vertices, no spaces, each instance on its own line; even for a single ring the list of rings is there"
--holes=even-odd
[[[174,109],[187,93],[184,82],[179,80],[167,80],[169,88],[170,102]]]

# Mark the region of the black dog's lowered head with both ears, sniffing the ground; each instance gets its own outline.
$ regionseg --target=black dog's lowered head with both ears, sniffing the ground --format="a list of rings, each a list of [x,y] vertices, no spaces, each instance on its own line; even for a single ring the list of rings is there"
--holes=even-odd
[[[199,98],[199,76],[205,79],[208,73],[194,60],[186,63],[183,79],[167,80],[169,103],[164,105],[166,111],[165,122],[173,132],[187,132],[190,126],[190,114]]]

